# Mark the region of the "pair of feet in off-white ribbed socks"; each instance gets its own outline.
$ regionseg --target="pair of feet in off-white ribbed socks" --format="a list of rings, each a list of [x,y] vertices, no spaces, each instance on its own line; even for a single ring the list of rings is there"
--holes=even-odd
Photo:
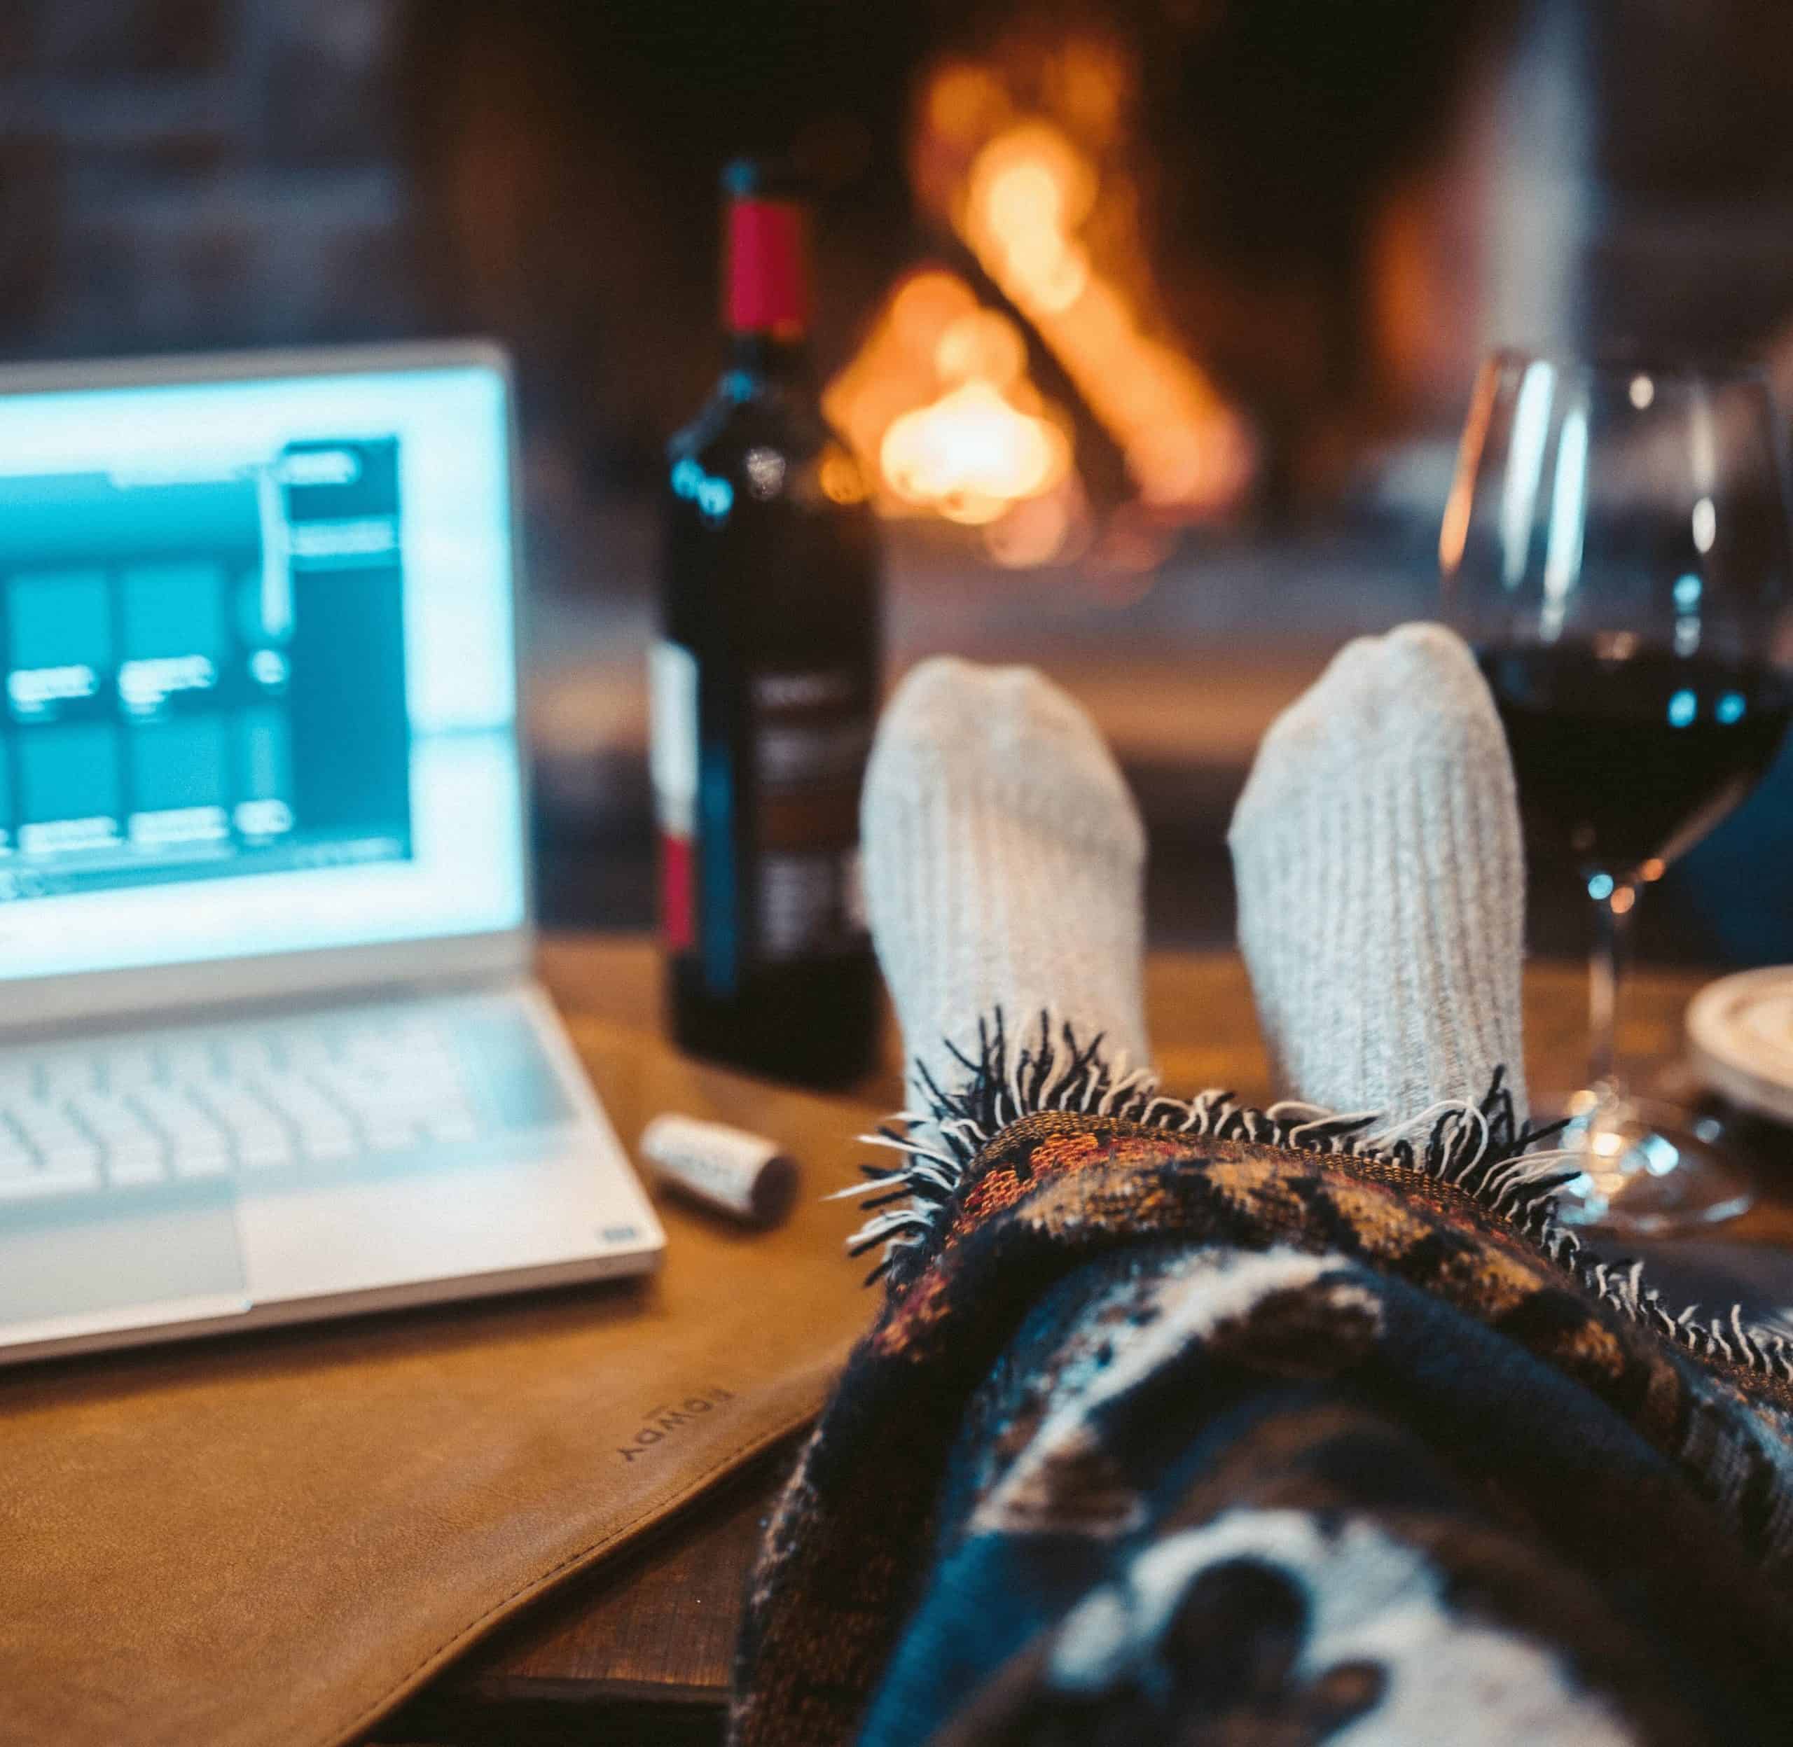
[[[916,667],[864,790],[866,901],[913,1070],[1042,1011],[1146,1068],[1146,833],[1088,717],[1031,668]],[[1228,842],[1291,1098],[1408,1122],[1508,1070],[1524,1118],[1524,864],[1494,702],[1440,625],[1350,643],[1271,726]]]

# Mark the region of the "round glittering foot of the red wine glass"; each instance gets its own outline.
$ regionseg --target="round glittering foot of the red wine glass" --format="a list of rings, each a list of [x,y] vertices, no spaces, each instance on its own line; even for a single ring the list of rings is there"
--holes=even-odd
[[[1736,1218],[1755,1201],[1743,1159],[1716,1120],[1596,1093],[1576,1093],[1567,1114],[1555,1145],[1585,1165],[1556,1193],[1565,1226],[1667,1236]]]

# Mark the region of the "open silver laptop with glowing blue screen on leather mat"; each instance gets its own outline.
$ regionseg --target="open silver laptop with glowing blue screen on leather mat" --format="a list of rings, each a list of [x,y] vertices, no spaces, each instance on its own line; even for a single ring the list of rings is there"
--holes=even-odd
[[[484,344],[0,371],[0,1364],[651,1269]]]

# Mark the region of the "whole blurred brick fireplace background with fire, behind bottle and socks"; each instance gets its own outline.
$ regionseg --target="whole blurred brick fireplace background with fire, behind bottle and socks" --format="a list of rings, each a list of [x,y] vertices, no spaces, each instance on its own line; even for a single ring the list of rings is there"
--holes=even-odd
[[[515,348],[550,919],[649,914],[651,495],[719,366],[741,151],[818,188],[893,672],[950,647],[1088,699],[1160,939],[1228,937],[1275,710],[1429,609],[1486,346],[1793,387],[1793,7],[1761,0],[7,0],[0,353]],[[990,455],[941,473],[974,414]],[[1782,769],[1646,950],[1793,957],[1789,860]],[[1540,891],[1538,941],[1578,928]]]

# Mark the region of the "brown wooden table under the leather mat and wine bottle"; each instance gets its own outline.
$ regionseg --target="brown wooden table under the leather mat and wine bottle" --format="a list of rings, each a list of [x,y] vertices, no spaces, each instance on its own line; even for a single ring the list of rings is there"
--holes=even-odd
[[[541,971],[568,1016],[658,1025],[658,964],[640,939],[549,939]],[[1639,1080],[1680,1050],[1682,1009],[1700,975],[1639,971],[1626,991],[1619,1057]],[[1533,964],[1526,973],[1526,1059],[1533,1086],[1569,1088],[1583,1059],[1585,971]],[[1232,953],[1160,953],[1146,1003],[1171,1091],[1230,1086],[1269,1095],[1244,966]],[[577,1032],[577,1023],[574,1025]],[[900,1063],[868,1084],[896,1107]],[[1770,1195],[1728,1238],[1793,1245],[1793,1195]],[[778,1464],[787,1460],[782,1453]],[[758,1525],[778,1464],[737,1476],[653,1543],[570,1582],[500,1629],[380,1731],[385,1743],[669,1742],[721,1738],[728,1659]]]

